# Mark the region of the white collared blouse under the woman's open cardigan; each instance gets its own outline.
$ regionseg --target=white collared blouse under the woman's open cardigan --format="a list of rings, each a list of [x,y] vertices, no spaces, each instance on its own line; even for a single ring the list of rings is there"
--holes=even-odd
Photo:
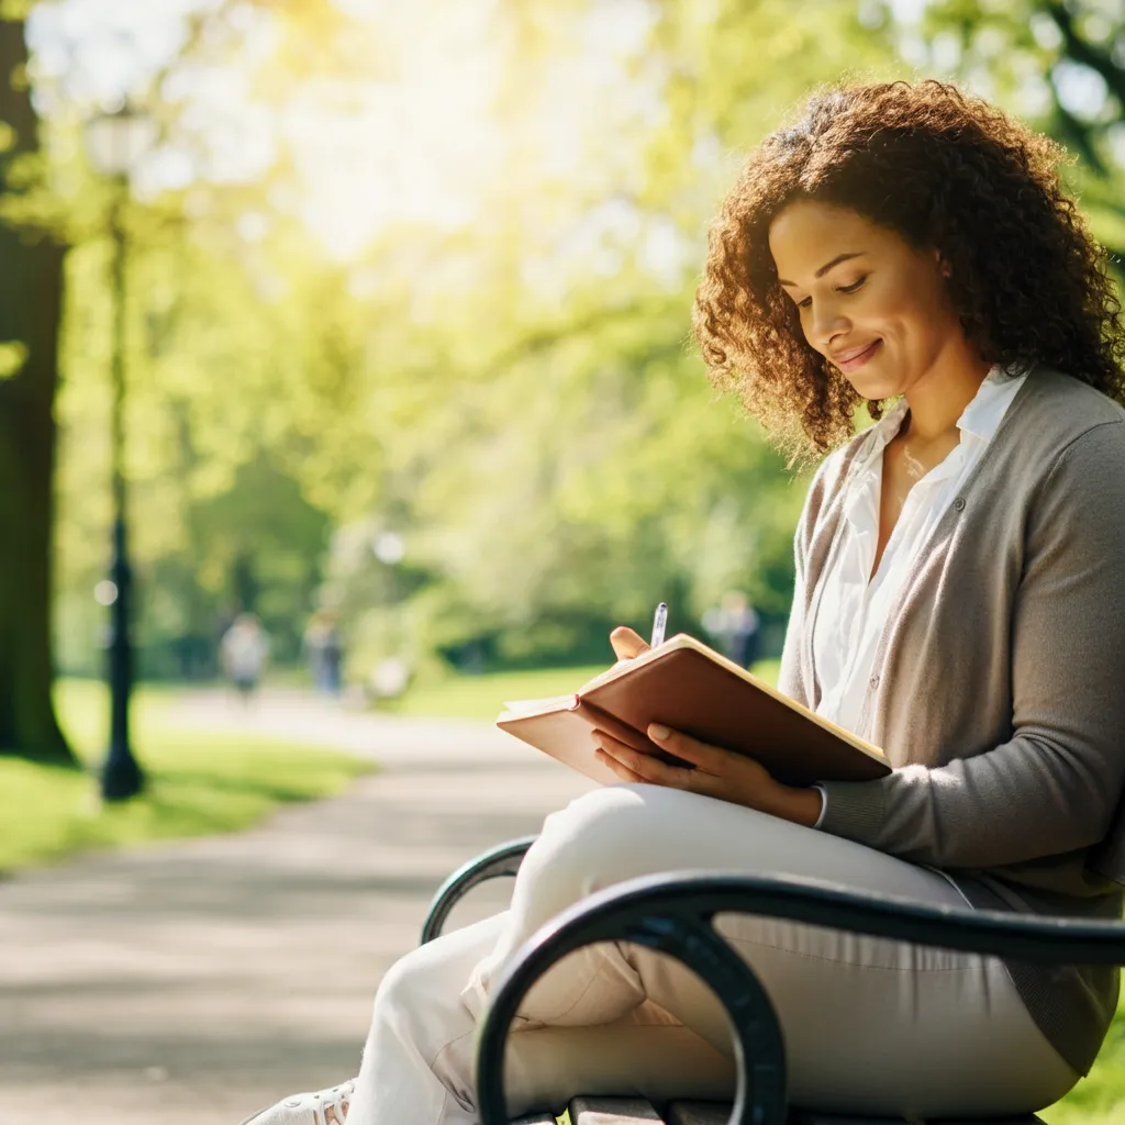
[[[812,657],[820,700],[817,713],[860,738],[868,686],[878,682],[874,666],[879,639],[912,560],[925,548],[938,520],[957,497],[962,484],[981,459],[1016,393],[1025,369],[989,371],[972,402],[957,418],[957,446],[918,480],[871,574],[879,541],[879,502],[883,483],[883,450],[899,432],[908,406],[900,399],[867,431],[846,485],[844,519],[832,543],[812,629]]]

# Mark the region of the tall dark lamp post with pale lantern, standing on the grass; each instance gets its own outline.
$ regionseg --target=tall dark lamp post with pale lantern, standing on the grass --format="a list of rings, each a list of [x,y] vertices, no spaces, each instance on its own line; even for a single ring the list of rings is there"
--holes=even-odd
[[[109,641],[109,752],[101,773],[101,795],[106,801],[122,801],[144,788],[144,774],[129,745],[129,694],[133,690],[133,647],[129,616],[133,601],[133,567],[128,551],[128,506],[125,479],[125,206],[129,194],[129,172],[152,142],[150,118],[128,105],[116,112],[94,117],[86,129],[90,159],[99,172],[114,181],[114,201],[109,216],[112,240],[110,289],[114,296],[110,480],[114,503],[114,556],[110,566]]]

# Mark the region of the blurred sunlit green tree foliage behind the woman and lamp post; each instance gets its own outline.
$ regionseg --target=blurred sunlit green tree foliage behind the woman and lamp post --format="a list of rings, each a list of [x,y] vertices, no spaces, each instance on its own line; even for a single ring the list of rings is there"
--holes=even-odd
[[[917,20],[852,0],[609,7],[502,4],[482,30],[452,0],[363,17],[220,6],[151,75],[169,150],[210,151],[191,97],[199,69],[244,83],[274,148],[243,180],[200,160],[189,182],[137,196],[126,216],[128,466],[151,670],[206,670],[219,620],[248,596],[282,659],[317,604],[335,608],[361,680],[390,656],[423,678],[469,654],[596,659],[609,626],[644,623],[664,598],[678,627],[698,628],[731,586],[776,638],[803,482],[716,399],[687,339],[706,222],[739,153],[817,83],[917,66],[1064,130],[1052,90],[1071,47],[1045,30],[1058,20],[1037,0],[935,0]],[[1070,10],[1108,51],[1120,19],[1096,0]],[[606,42],[622,45],[588,62]],[[454,88],[453,63],[474,52],[482,69]],[[465,118],[467,144],[439,125],[460,120],[458,98],[478,89],[490,100],[476,124]],[[372,134],[386,179],[371,182],[399,213],[388,202],[366,237],[357,216],[354,237],[330,252],[309,223],[333,217],[324,200],[360,165],[312,160],[292,117],[342,129],[376,96],[403,114],[432,99],[432,119],[410,118],[432,132],[423,145],[404,125],[397,146]],[[58,632],[64,666],[90,669],[108,526],[108,195],[81,159],[87,110],[56,105],[52,164],[27,173],[21,206],[55,215],[76,246]],[[1110,97],[1098,112],[1095,156],[1079,147],[1071,174],[1101,236],[1125,244],[1120,107]],[[228,116],[216,132],[235,127],[235,107]],[[411,190],[433,194],[429,210],[394,196],[399,168],[413,170]],[[464,207],[453,217],[450,199]],[[371,550],[387,532],[402,537],[400,561]]]

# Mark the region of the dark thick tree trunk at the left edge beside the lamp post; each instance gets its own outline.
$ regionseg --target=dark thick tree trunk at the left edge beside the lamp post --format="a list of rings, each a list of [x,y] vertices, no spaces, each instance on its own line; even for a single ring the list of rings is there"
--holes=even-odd
[[[0,122],[15,133],[0,159],[0,192],[11,190],[12,158],[38,151],[26,64],[22,22],[0,19]],[[63,255],[45,232],[0,220],[0,753],[74,763],[51,699]]]

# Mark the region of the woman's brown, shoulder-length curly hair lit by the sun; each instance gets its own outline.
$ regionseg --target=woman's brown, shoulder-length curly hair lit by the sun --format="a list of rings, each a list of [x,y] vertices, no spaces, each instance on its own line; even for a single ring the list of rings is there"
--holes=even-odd
[[[850,435],[861,397],[806,343],[767,243],[788,204],[816,199],[936,248],[986,362],[1040,360],[1125,404],[1120,303],[1060,183],[1064,155],[935,80],[814,94],[750,154],[711,226],[692,324],[712,384],[736,392],[793,459]],[[881,406],[870,404],[874,417]]]

